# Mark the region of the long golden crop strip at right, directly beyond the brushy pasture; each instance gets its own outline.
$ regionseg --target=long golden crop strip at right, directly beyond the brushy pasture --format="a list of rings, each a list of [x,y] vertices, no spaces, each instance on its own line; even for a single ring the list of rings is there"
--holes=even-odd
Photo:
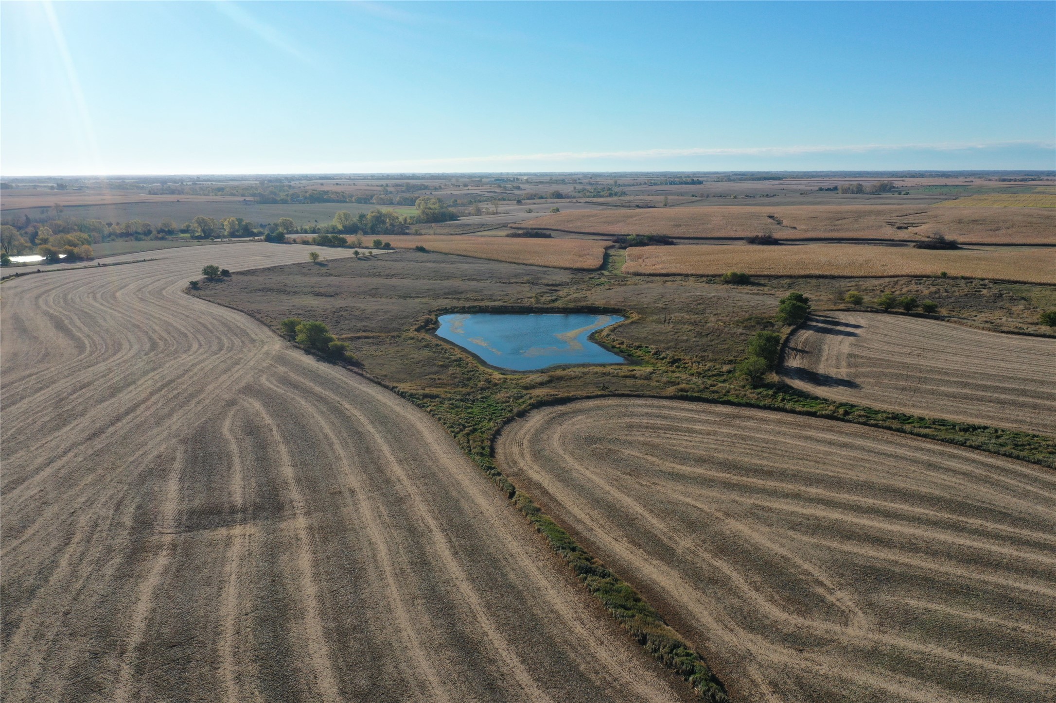
[[[1056,283],[1056,248],[992,247],[958,250],[860,244],[779,247],[691,245],[627,249],[626,273],[717,276],[949,276]]]

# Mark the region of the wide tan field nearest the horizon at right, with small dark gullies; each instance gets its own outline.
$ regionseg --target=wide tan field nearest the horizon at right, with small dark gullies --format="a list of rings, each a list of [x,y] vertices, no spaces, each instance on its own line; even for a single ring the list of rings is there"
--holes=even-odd
[[[597,234],[666,234],[778,240],[922,240],[942,233],[969,244],[1056,244],[1056,211],[1044,208],[932,206],[693,206],[559,212],[536,229]]]

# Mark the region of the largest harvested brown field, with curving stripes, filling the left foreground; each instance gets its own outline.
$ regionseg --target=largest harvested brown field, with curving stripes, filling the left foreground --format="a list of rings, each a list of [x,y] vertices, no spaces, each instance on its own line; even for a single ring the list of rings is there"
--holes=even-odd
[[[304,248],[220,249],[0,288],[5,701],[682,695],[439,424],[181,291]]]

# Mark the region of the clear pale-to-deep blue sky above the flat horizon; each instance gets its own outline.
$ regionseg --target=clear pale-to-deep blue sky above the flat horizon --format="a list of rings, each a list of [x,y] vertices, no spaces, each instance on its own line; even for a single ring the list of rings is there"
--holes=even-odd
[[[0,14],[6,176],[1056,169],[1051,1]]]

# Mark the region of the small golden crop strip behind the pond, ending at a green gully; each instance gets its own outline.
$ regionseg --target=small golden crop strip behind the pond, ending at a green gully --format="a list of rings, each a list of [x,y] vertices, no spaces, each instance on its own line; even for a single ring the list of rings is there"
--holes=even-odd
[[[431,251],[506,261],[512,264],[579,269],[601,267],[607,246],[607,243],[596,240],[442,235],[400,236],[395,238],[392,244],[399,249],[423,246]]]

